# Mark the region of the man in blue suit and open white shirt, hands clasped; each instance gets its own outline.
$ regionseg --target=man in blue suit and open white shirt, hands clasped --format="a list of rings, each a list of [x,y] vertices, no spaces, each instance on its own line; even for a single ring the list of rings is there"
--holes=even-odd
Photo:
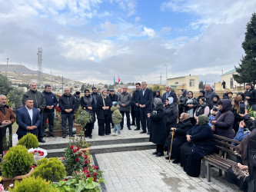
[[[18,124],[18,140],[27,133],[38,134],[38,127],[41,124],[41,114],[37,108],[34,108],[32,98],[26,98],[25,106],[16,111],[16,122]]]

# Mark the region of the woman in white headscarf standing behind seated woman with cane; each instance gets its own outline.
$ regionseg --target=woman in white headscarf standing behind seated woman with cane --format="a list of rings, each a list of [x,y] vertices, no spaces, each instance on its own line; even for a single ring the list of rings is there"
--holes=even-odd
[[[166,99],[164,114],[166,137],[168,137],[171,132],[171,127],[177,127],[178,109],[176,104],[173,103],[173,98]]]

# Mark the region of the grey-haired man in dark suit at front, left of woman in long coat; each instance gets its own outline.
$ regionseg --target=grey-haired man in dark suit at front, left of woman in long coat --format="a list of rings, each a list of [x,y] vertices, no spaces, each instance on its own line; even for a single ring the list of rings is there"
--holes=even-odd
[[[150,119],[148,118],[148,114],[152,111],[152,101],[153,101],[153,93],[151,89],[147,88],[147,83],[145,81],[141,82],[141,90],[138,94],[138,104],[140,108],[140,118],[141,118],[141,134],[147,133],[146,125],[148,126],[148,134],[150,134]],[[147,121],[147,124],[146,124]]]

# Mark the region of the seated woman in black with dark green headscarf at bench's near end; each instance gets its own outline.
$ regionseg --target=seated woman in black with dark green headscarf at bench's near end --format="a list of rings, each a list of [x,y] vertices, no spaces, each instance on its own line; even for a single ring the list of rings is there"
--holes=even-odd
[[[200,115],[197,124],[187,132],[187,143],[181,146],[181,167],[191,177],[198,177],[201,158],[214,152],[214,134],[207,116]]]

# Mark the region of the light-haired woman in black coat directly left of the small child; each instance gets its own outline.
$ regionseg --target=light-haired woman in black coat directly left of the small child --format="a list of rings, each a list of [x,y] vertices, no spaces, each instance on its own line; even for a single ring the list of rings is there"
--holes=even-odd
[[[112,102],[107,95],[107,90],[102,90],[101,95],[97,98],[97,119],[98,119],[98,135],[104,136],[111,134],[110,122]]]

